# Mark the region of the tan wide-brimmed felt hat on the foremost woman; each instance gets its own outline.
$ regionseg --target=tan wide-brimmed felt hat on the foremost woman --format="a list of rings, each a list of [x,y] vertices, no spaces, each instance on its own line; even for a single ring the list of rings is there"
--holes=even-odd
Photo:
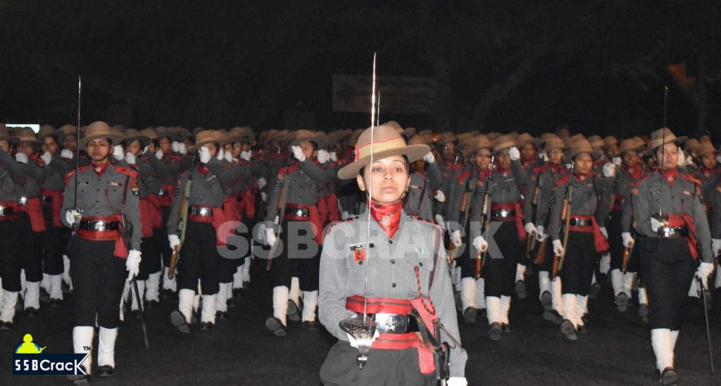
[[[371,135],[373,136],[371,142]],[[373,153],[371,154],[371,148]],[[391,156],[406,156],[409,162],[423,158],[430,151],[428,145],[407,145],[404,138],[390,125],[368,127],[355,143],[353,162],[338,171],[339,179],[353,179],[361,169],[373,161]]]

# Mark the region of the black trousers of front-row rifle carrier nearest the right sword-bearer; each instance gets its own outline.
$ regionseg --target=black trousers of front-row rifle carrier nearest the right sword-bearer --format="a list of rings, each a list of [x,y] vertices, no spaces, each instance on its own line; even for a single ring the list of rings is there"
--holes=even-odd
[[[599,253],[596,252],[593,232],[576,232],[568,235],[566,255],[559,272],[564,294],[586,296],[593,278],[593,269]],[[551,256],[553,259],[553,256]]]

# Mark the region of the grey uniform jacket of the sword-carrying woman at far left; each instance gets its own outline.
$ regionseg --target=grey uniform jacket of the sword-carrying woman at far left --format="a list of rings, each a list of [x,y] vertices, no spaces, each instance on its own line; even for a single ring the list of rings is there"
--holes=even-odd
[[[66,220],[66,213],[73,209],[77,189],[77,208],[83,211],[83,217],[123,214],[125,222],[133,227],[128,249],[140,251],[141,223],[137,187],[133,189],[136,181],[128,174],[137,176],[135,171],[115,165],[112,161],[102,176],[95,174],[90,167],[83,166],[78,171],[77,184],[75,184],[75,171],[71,171],[66,178],[65,192],[63,192],[63,209],[60,213],[63,224],[68,228],[71,227]]]

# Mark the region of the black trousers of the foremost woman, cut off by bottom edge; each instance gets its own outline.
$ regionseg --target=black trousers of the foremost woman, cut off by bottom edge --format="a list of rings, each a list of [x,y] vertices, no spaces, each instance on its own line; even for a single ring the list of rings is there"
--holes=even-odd
[[[416,349],[371,349],[358,369],[358,350],[346,341],[333,346],[320,369],[323,385],[436,385],[435,374],[423,375]]]

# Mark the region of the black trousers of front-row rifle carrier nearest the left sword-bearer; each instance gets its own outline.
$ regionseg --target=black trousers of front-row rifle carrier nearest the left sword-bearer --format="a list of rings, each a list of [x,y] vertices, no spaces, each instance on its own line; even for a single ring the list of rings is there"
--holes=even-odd
[[[218,293],[218,247],[216,228],[211,223],[188,221],[185,233],[189,236],[180,252],[178,261],[178,284],[180,289],[200,290],[203,295]]]

